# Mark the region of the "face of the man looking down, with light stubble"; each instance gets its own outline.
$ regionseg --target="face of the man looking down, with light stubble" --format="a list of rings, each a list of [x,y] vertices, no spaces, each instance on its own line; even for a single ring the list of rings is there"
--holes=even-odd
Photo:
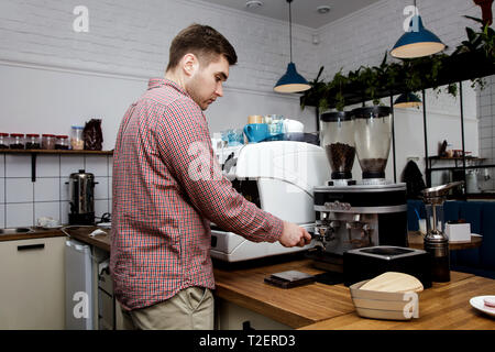
[[[206,110],[218,97],[223,97],[222,84],[228,77],[229,62],[220,55],[207,66],[198,66],[186,84],[186,91],[201,110]]]

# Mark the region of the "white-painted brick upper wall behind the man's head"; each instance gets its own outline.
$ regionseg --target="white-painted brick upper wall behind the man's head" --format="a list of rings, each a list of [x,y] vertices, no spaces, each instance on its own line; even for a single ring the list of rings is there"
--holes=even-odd
[[[79,4],[89,10],[88,33],[73,31],[73,9]],[[227,87],[271,92],[289,61],[287,23],[197,0],[2,0],[0,6],[2,59],[162,76],[173,37],[198,22],[219,30],[238,51]],[[293,26],[294,59],[308,77],[318,69],[311,35]]]

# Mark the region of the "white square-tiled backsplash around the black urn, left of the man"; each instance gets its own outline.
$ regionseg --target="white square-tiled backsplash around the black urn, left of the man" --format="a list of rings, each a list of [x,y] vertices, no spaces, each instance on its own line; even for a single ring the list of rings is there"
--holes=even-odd
[[[87,172],[95,173],[95,212],[111,210],[111,157],[91,155]],[[36,182],[31,180],[30,155],[0,155],[0,228],[34,226],[40,217],[68,223],[68,177],[85,168],[84,155],[38,155]],[[7,177],[3,177],[7,175]]]

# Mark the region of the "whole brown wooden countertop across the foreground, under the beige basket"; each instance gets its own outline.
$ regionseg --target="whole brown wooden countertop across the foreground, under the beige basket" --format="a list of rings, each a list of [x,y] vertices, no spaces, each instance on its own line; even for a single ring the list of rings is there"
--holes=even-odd
[[[361,318],[355,314],[349,288],[343,284],[310,285],[289,289],[263,282],[270,274],[296,270],[321,271],[309,260],[262,267],[215,268],[216,295],[273,320],[304,330],[332,329],[495,329],[492,318],[471,307],[471,297],[495,293],[495,280],[451,272],[450,283],[433,283],[419,298],[419,319],[388,321]]]

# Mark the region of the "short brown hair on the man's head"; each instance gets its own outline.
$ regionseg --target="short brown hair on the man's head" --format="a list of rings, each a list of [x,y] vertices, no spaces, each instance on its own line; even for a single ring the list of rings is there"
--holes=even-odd
[[[167,72],[175,68],[187,53],[195,54],[201,64],[208,65],[223,55],[229,65],[235,65],[238,55],[229,41],[209,25],[191,24],[172,41]]]

